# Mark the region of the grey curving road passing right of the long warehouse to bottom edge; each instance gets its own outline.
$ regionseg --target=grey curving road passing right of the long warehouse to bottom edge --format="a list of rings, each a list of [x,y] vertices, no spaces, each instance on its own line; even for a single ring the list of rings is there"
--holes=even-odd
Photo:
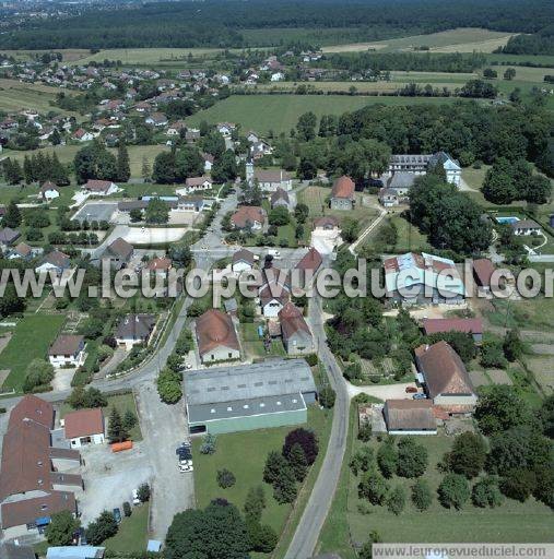
[[[337,391],[337,401],[327,453],[285,559],[313,557],[339,483],[349,432],[350,396],[337,360],[327,347],[319,298],[310,300],[308,316],[318,345],[318,355],[326,367],[332,388]]]

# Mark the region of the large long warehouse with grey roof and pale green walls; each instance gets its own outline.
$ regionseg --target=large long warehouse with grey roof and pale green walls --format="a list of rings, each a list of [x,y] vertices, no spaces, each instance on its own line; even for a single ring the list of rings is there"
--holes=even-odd
[[[185,393],[191,433],[304,424],[317,396],[304,359],[193,371],[186,376]]]

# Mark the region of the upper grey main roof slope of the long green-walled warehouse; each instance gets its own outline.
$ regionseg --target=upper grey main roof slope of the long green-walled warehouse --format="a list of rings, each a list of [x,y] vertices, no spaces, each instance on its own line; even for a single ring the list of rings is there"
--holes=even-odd
[[[188,372],[185,389],[188,404],[201,405],[316,392],[316,384],[304,359],[268,359]]]

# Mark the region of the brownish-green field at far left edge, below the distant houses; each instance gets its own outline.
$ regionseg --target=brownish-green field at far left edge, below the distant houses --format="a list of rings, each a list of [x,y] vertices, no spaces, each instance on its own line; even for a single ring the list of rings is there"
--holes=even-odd
[[[61,90],[48,85],[21,83],[14,80],[0,79],[0,110],[5,112],[24,109],[36,109],[39,112],[54,110],[58,114],[71,115],[50,104]]]

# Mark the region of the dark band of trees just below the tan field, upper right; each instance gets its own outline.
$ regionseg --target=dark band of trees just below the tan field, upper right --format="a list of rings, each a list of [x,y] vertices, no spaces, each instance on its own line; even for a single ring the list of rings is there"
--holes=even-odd
[[[482,52],[462,55],[416,52],[355,52],[327,55],[321,67],[338,68],[351,72],[372,70],[405,70],[419,72],[473,72],[486,63]]]

